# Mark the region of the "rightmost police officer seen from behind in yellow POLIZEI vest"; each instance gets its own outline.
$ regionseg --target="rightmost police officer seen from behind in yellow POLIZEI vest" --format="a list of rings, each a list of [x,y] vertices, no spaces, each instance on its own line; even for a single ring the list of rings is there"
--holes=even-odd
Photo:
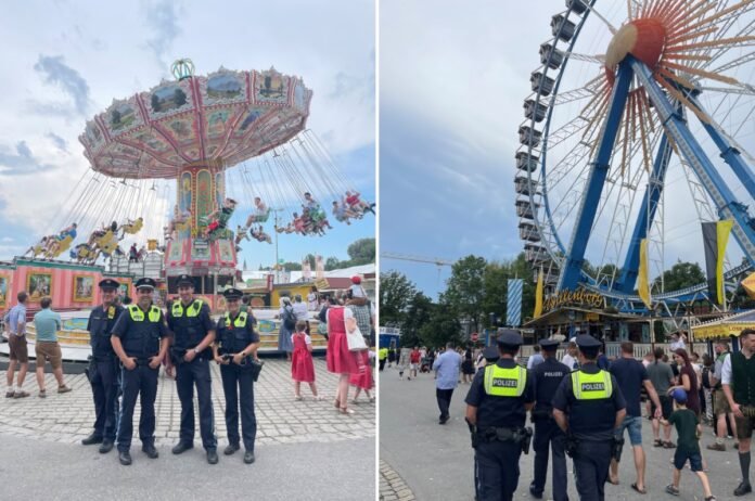
[[[624,421],[626,402],[616,378],[596,364],[600,342],[581,334],[577,347],[579,369],[564,377],[555,391],[553,418],[567,435],[579,499],[603,501],[614,429]]]

